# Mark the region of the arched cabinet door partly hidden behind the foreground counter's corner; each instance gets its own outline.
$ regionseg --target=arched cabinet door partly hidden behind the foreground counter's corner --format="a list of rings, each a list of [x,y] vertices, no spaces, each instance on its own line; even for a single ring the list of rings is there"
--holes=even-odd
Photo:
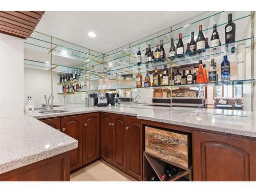
[[[61,131],[78,141],[78,147],[70,151],[70,171],[82,166],[82,115],[61,118]]]

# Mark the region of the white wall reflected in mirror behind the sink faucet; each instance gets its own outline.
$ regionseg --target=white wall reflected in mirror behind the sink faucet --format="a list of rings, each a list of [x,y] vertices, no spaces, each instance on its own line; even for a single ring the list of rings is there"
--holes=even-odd
[[[53,72],[53,104],[62,104],[61,86],[57,85],[59,76],[57,72]],[[35,108],[41,108],[45,103],[44,95],[51,95],[51,71],[24,68],[24,99],[31,96],[35,103]],[[51,100],[50,102],[51,103]]]

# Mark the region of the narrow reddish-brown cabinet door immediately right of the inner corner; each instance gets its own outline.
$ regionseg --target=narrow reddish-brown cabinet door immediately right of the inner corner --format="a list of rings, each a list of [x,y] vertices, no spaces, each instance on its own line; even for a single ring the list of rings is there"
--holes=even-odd
[[[113,126],[112,114],[101,113],[100,138],[101,138],[101,158],[106,162],[112,163],[113,153]]]

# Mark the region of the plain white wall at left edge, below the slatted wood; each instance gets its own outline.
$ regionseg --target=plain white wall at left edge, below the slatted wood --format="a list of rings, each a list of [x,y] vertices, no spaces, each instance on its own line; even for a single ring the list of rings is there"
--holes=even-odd
[[[0,33],[0,115],[24,112],[24,39]]]

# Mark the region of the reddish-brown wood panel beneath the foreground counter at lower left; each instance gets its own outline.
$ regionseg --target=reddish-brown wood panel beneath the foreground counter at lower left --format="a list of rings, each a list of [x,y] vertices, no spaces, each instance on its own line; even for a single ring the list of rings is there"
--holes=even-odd
[[[56,169],[62,176],[58,178],[56,172],[52,173],[54,164],[62,163],[61,168]],[[42,169],[44,171],[42,171]],[[48,159],[44,159],[10,172],[0,174],[0,181],[69,181],[69,152],[65,152]]]

